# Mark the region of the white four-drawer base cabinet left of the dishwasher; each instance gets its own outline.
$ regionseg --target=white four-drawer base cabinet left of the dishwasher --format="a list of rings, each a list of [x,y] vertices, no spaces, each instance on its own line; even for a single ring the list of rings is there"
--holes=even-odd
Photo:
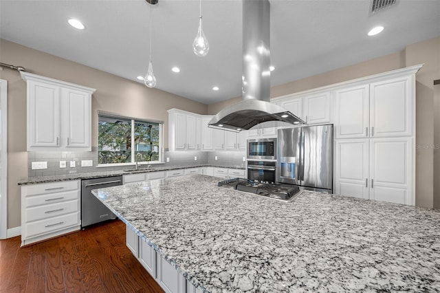
[[[21,246],[80,230],[80,180],[21,186]]]

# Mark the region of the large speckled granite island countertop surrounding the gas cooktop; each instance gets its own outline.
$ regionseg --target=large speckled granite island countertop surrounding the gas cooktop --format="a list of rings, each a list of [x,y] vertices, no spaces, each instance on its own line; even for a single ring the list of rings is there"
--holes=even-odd
[[[96,195],[208,292],[440,291],[440,211],[304,192],[292,203],[189,175]]]

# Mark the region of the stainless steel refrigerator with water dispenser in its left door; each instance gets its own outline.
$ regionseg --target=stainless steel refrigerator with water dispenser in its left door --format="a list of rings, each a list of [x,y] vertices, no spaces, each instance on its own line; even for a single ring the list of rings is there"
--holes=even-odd
[[[278,129],[276,181],[333,193],[333,124]]]

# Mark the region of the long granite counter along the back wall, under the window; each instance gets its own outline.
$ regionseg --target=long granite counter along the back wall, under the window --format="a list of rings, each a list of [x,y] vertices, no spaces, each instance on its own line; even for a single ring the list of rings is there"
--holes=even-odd
[[[38,176],[38,177],[27,177],[23,178],[18,182],[19,185],[26,184],[37,184],[37,183],[48,183],[48,182],[58,182],[58,181],[67,181],[67,180],[82,180],[82,179],[94,179],[101,177],[111,177],[111,176],[120,176],[120,175],[129,175],[135,173],[148,173],[148,172],[157,172],[157,171],[169,171],[169,170],[177,170],[177,169],[190,169],[190,168],[200,168],[200,167],[216,167],[216,168],[231,168],[231,169],[245,169],[244,166],[230,166],[230,165],[217,165],[217,164],[197,164],[197,165],[188,165],[188,166],[160,166],[160,167],[151,167],[150,169],[146,169],[146,167],[141,167],[139,170],[134,171],[133,167],[128,167],[127,169],[131,169],[130,172],[126,172],[124,170],[118,171],[102,171],[102,172],[90,172],[90,173],[74,173],[67,175],[53,175],[53,176]]]

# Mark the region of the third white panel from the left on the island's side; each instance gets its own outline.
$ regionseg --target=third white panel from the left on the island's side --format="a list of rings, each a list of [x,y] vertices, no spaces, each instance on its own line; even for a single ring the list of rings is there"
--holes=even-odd
[[[157,283],[167,293],[185,293],[186,279],[157,252]]]

